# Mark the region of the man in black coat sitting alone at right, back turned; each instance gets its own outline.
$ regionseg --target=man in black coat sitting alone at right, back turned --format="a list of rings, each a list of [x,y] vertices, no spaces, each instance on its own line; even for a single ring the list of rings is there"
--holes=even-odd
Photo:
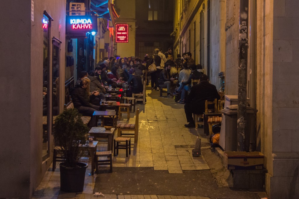
[[[195,127],[192,113],[203,114],[203,112],[205,112],[205,101],[215,98],[217,98],[217,100],[220,99],[216,86],[208,82],[207,75],[202,75],[200,77],[200,83],[191,88],[191,92],[186,99],[184,109],[189,124],[185,124],[185,127]]]

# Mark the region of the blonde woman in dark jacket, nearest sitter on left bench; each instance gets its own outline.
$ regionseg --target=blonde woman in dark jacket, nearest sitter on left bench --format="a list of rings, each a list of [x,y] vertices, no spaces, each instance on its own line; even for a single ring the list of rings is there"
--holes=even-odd
[[[99,106],[91,104],[90,101],[99,95],[99,92],[89,92],[88,87],[89,81],[88,78],[83,78],[79,84],[77,84],[71,93],[72,101],[74,107],[83,114],[83,116],[90,116],[91,120],[89,122],[89,127],[97,126],[96,117],[93,116],[94,111],[100,109]]]

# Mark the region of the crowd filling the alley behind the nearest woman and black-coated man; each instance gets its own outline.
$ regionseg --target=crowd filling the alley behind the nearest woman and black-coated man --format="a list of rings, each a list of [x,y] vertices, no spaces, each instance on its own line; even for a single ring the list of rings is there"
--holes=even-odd
[[[146,85],[149,84],[149,76],[151,77],[152,90],[159,91],[161,88],[167,88],[167,97],[180,96],[178,103],[185,103],[186,94],[191,89],[191,79],[199,79],[200,75],[204,74],[200,64],[195,65],[190,52],[183,53],[183,56],[177,55],[173,61],[172,49],[169,48],[164,54],[161,48],[156,48],[152,56],[146,55],[143,59],[135,56],[120,57],[104,57],[95,69],[88,75],[81,74],[82,78],[89,78],[90,92],[98,91],[105,94],[110,85],[121,84],[127,82],[130,85],[130,93],[143,92],[143,81],[146,80]],[[166,57],[167,56],[167,57]],[[163,63],[162,63],[163,62]],[[145,71],[148,67],[155,63],[156,70],[152,73]],[[142,79],[144,77],[144,79]],[[177,88],[174,80],[177,77]],[[77,84],[80,83],[78,80]],[[172,90],[172,91],[171,91]],[[101,98],[103,95],[99,94]],[[97,104],[97,101],[94,101]]]

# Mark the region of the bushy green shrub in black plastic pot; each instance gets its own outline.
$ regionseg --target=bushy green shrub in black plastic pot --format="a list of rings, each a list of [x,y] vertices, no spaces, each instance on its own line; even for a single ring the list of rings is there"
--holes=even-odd
[[[54,144],[59,147],[60,189],[66,192],[82,192],[87,164],[79,162],[87,147],[88,127],[83,124],[77,109],[66,109],[55,119]],[[84,150],[85,149],[85,150]]]

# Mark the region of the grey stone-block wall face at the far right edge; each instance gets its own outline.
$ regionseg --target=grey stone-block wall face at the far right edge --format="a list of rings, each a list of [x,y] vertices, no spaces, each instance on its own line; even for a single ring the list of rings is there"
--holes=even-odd
[[[274,199],[299,198],[298,7],[297,0],[273,1],[273,46],[269,48],[273,48],[273,177],[270,189]]]

